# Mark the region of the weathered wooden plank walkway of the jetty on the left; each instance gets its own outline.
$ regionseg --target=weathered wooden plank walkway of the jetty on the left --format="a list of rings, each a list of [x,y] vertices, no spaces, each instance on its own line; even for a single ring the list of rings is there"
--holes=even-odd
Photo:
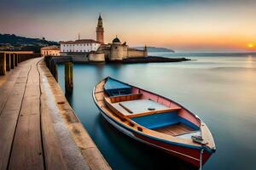
[[[0,76],[2,169],[111,169],[43,58]]]

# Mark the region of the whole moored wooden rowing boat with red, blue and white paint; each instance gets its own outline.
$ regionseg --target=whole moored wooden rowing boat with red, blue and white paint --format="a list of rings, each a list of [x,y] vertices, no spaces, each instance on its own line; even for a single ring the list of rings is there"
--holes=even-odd
[[[111,77],[96,85],[93,99],[102,116],[121,132],[196,167],[216,150],[207,125],[172,99]]]

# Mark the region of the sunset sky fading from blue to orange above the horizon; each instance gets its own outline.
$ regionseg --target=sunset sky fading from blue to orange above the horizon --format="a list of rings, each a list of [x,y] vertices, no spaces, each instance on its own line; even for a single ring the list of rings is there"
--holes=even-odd
[[[96,39],[177,51],[256,51],[256,0],[5,0],[0,33],[48,40]]]

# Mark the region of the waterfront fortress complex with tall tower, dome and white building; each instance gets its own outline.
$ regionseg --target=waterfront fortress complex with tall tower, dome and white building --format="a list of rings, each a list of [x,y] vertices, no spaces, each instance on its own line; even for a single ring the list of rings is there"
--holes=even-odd
[[[122,60],[127,58],[147,57],[148,50],[129,48],[126,42],[122,43],[115,37],[112,43],[104,43],[104,28],[102,15],[99,15],[96,26],[96,40],[79,39],[61,43],[61,55],[69,55],[90,61]],[[77,58],[79,59],[79,58]]]

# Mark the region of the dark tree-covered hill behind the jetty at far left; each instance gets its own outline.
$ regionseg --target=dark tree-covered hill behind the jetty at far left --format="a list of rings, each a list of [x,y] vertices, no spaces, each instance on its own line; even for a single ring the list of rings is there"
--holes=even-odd
[[[59,45],[59,43],[47,41],[44,37],[40,39],[19,37],[15,34],[0,34],[0,48],[2,50],[33,50],[38,52],[41,47],[50,45]]]

